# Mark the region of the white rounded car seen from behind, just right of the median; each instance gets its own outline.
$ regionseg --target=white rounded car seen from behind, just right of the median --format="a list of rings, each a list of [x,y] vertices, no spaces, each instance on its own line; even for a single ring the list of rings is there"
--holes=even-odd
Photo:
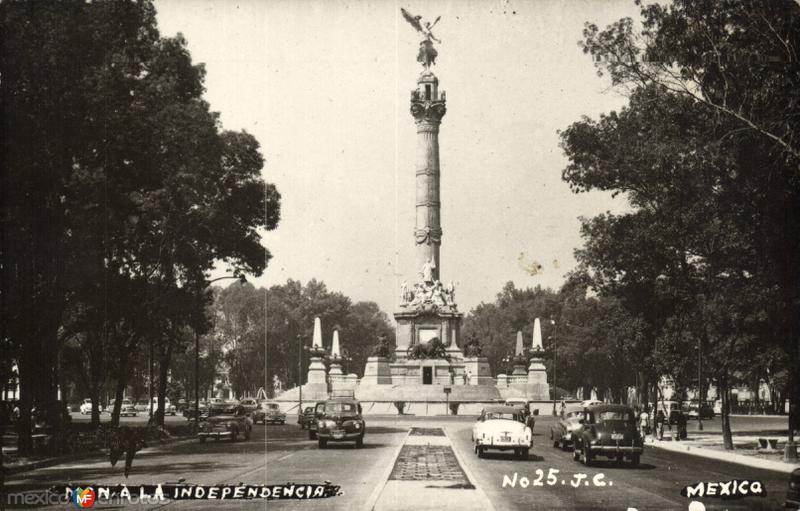
[[[472,427],[472,443],[479,458],[487,449],[514,451],[519,458],[528,458],[533,432],[525,425],[522,410],[513,406],[487,406]]]

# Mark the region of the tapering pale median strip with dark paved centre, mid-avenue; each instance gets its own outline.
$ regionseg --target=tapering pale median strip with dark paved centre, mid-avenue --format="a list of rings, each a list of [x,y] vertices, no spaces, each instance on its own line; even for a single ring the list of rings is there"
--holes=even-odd
[[[409,429],[365,511],[493,511],[443,428]]]

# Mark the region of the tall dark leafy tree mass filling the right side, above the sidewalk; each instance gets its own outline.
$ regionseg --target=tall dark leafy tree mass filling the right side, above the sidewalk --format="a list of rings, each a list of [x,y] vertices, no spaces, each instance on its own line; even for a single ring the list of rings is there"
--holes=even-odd
[[[634,212],[584,221],[578,257],[597,289],[645,319],[655,377],[666,362],[688,380],[687,347],[699,343],[729,357],[715,365],[724,395],[756,338],[748,332],[797,356],[797,247],[786,243],[798,220],[796,120],[776,100],[792,101],[797,73],[762,58],[781,38],[795,44],[795,12],[780,2],[675,2],[642,9],[641,39],[630,20],[584,32],[584,49],[630,101],[562,133],[564,179],[577,192],[623,193]],[[735,289],[753,298],[749,309]],[[710,335],[714,323],[742,330]]]

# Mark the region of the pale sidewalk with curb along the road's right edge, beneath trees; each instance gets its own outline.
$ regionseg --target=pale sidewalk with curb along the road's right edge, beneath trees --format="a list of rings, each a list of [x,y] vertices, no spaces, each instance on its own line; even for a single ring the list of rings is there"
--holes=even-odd
[[[778,444],[777,450],[759,450],[759,438],[774,438],[773,435],[740,435],[733,436],[733,444],[736,450],[725,450],[722,443],[721,434],[702,434],[694,433],[687,440],[675,441],[668,439],[664,434],[664,440],[656,440],[652,435],[646,437],[649,446],[669,451],[683,452],[704,458],[738,463],[754,468],[774,470],[777,472],[790,473],[796,468],[800,468],[800,463],[787,463],[783,461],[783,444]]]

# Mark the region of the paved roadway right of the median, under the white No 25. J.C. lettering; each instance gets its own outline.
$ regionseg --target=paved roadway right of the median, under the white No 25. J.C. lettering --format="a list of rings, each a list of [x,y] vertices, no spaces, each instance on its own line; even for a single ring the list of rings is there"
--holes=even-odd
[[[503,502],[498,509],[687,509],[689,500],[680,494],[681,488],[699,481],[728,481],[757,479],[767,488],[766,498],[748,497],[738,501],[702,499],[706,509],[780,509],[786,493],[788,476],[742,465],[708,460],[697,456],[656,448],[645,448],[641,466],[617,466],[600,458],[592,467],[573,461],[571,452],[552,447],[549,439],[551,418],[537,421],[534,449],[527,461],[515,460],[505,453],[488,453],[478,459],[472,452],[470,424],[448,426],[448,433],[462,454],[478,484],[494,502]],[[550,470],[558,470],[547,484]],[[540,472],[542,476],[540,477]],[[541,486],[531,483],[503,487],[504,476],[518,475],[529,481],[539,478]],[[587,474],[587,479],[574,488],[575,474]],[[603,474],[606,486],[593,484]],[[563,481],[563,483],[562,483]],[[586,483],[589,483],[588,485]]]

